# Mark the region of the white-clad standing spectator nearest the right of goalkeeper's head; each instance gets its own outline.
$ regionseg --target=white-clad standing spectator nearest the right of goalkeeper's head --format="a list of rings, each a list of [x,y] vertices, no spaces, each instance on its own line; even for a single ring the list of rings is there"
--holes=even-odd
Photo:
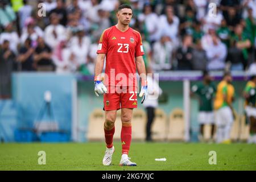
[[[152,6],[148,3],[144,5],[143,13],[139,14],[138,20],[141,23],[145,23],[146,30],[149,34],[149,41],[151,43],[160,39],[159,36],[159,17],[154,11]]]

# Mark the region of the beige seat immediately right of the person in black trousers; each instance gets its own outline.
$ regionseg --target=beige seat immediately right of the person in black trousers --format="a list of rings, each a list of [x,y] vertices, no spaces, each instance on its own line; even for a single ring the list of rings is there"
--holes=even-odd
[[[162,109],[155,110],[151,133],[153,140],[164,141],[167,139],[167,116]]]

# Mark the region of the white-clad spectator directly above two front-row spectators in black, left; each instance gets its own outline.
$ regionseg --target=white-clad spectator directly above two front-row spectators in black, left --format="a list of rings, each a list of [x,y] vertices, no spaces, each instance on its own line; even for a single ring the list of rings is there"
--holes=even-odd
[[[32,44],[36,44],[38,37],[44,36],[43,30],[36,26],[35,19],[32,17],[28,17],[24,23],[25,24],[22,30],[22,35],[20,37],[20,42],[24,44],[27,38],[30,38]]]

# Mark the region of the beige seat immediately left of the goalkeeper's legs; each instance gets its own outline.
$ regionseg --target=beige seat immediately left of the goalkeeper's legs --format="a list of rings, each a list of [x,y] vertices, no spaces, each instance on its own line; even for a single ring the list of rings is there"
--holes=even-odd
[[[89,117],[87,139],[89,141],[103,141],[105,113],[102,109],[95,109]]]

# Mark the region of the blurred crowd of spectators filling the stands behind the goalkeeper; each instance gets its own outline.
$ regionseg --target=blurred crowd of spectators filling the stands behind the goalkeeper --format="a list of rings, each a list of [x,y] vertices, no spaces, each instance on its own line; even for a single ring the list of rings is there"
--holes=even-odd
[[[255,67],[256,0],[2,0],[0,73],[93,74],[97,42],[122,3],[155,72]]]

